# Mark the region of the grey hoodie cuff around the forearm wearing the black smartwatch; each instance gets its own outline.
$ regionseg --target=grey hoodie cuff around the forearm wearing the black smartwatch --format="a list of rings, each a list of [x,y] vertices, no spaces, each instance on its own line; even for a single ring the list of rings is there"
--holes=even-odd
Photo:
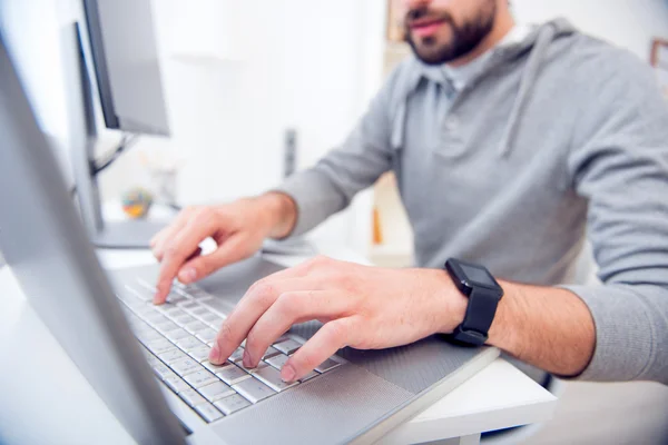
[[[580,380],[638,378],[652,357],[654,326],[635,291],[618,286],[560,286],[589,308],[596,326],[593,356]]]

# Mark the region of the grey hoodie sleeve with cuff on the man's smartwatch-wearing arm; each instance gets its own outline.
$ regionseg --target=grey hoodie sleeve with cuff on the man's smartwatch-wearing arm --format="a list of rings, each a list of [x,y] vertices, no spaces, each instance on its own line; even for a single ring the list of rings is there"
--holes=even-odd
[[[567,286],[596,324],[579,378],[668,384],[668,103],[651,70],[620,52],[587,72],[598,88],[583,96],[568,162],[602,281]]]

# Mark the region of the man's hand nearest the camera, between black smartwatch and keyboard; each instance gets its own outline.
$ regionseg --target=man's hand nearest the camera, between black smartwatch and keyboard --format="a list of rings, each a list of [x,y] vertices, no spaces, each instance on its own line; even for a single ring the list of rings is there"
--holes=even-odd
[[[324,326],[285,364],[293,382],[344,346],[381,349],[451,333],[464,318],[465,297],[448,274],[383,269],[318,257],[253,285],[223,323],[209,360],[225,362],[246,338],[244,366],[257,366],[292,325]]]

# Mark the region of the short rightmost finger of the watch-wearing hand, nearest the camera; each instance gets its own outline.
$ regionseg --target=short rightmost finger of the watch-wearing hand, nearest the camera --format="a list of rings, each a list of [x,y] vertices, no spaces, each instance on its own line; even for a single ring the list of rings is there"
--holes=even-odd
[[[354,343],[352,318],[337,318],[323,325],[308,342],[287,359],[281,369],[284,382],[295,382],[332,357],[338,349]]]

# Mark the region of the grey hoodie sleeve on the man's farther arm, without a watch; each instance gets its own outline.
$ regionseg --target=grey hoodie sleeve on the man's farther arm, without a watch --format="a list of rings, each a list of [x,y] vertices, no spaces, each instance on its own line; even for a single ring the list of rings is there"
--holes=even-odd
[[[332,150],[313,168],[293,175],[275,189],[289,195],[297,205],[297,224],[291,236],[302,235],[343,210],[355,194],[390,170],[390,101],[400,69],[391,75],[340,148]]]

